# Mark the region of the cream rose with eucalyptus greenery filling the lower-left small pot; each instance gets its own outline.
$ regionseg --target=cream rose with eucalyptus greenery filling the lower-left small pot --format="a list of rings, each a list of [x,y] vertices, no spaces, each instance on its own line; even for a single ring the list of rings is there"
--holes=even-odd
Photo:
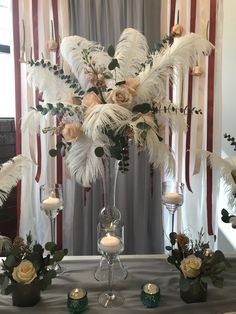
[[[45,254],[45,251],[48,253]],[[39,280],[40,289],[45,290],[56,277],[56,271],[48,266],[61,261],[66,254],[67,249],[58,250],[53,242],[47,242],[45,249],[38,243],[33,244],[31,233],[27,235],[26,243],[16,237],[6,259],[2,261],[2,294],[11,293],[16,283],[28,285],[34,280]]]

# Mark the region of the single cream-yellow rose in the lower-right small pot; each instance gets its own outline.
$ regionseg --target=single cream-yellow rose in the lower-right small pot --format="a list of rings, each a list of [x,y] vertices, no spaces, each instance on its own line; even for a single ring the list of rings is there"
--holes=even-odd
[[[180,269],[184,277],[196,278],[200,274],[202,260],[195,255],[189,255],[181,261]]]

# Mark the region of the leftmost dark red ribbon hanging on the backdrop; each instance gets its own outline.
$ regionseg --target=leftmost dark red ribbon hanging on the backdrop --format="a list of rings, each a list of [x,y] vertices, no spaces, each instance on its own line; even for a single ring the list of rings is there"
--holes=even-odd
[[[21,68],[20,68],[20,33],[19,33],[19,1],[12,1],[12,20],[13,20],[13,44],[14,44],[14,70],[15,70],[15,110],[16,110],[16,154],[21,153]],[[21,184],[17,185],[17,205],[16,219],[17,231],[19,234],[21,204]]]

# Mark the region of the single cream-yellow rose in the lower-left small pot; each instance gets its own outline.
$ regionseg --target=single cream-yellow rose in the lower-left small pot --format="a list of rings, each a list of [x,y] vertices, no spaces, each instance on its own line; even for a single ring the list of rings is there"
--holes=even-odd
[[[34,265],[25,259],[17,267],[14,267],[12,277],[16,282],[26,285],[31,283],[37,274]]]

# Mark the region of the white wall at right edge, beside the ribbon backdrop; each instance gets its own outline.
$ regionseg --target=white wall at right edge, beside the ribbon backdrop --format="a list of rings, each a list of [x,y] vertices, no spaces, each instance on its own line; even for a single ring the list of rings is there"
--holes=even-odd
[[[236,137],[235,109],[236,109],[236,1],[223,1],[223,39],[222,39],[222,138],[224,133]],[[236,155],[229,142],[222,139],[221,155],[223,158]],[[223,187],[219,198],[219,208],[227,208],[227,198]],[[219,215],[220,216],[220,215]],[[232,252],[236,249],[234,241],[236,230],[230,224],[221,222],[219,217],[218,246],[224,252]]]

